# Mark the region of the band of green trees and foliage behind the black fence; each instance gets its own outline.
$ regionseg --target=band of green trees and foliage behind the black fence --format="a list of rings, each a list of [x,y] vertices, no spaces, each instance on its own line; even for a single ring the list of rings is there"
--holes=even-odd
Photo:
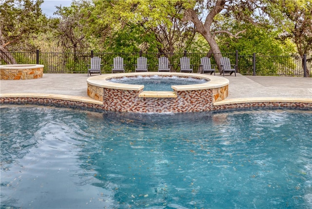
[[[156,70],[156,53],[168,56],[177,70],[184,50],[198,53],[191,58],[191,62],[198,63],[203,56],[200,53],[213,50],[211,45],[216,41],[215,49],[222,53],[238,50],[239,55],[246,55],[240,61],[246,63],[244,72],[252,70],[253,53],[281,56],[312,50],[311,0],[73,0],[71,6],[57,8],[59,17],[49,19],[41,13],[42,2],[3,1],[1,45],[10,51],[39,48],[46,52],[74,52],[74,57],[62,58],[62,67],[72,71],[86,69],[82,67],[86,60],[79,54],[90,50],[112,53],[107,59],[103,57],[105,71],[110,70],[116,53],[127,53],[125,62],[131,64],[126,71],[134,70],[140,50],[148,57],[152,70]],[[216,15],[207,21],[207,14],[214,9]],[[195,24],[196,18],[200,24]],[[199,33],[199,26],[204,26],[205,21],[211,21],[211,25]],[[238,35],[240,38],[234,36],[244,30]],[[210,37],[205,36],[209,33]],[[208,44],[209,39],[213,41]],[[274,73],[272,66],[280,62],[284,61],[259,60],[257,68]]]

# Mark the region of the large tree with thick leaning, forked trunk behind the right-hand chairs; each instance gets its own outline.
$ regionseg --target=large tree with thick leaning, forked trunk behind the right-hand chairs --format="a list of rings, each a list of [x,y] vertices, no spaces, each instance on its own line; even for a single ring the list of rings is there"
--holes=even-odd
[[[222,22],[218,22],[216,18],[232,15],[231,17],[241,24],[251,22],[256,25],[257,22],[261,21],[259,16],[264,11],[261,8],[265,8],[265,4],[256,0],[185,0],[182,2],[185,7],[183,20],[194,23],[196,31],[209,43],[211,47],[210,52],[215,55],[215,61],[218,66],[220,66],[220,59],[217,56],[221,56],[221,50],[216,42],[216,36],[227,34],[237,39],[240,38],[239,35],[244,33],[246,29],[235,31],[235,33],[228,29],[222,29]],[[254,12],[255,10],[259,13],[258,15]],[[206,17],[202,16],[204,12],[207,13]]]

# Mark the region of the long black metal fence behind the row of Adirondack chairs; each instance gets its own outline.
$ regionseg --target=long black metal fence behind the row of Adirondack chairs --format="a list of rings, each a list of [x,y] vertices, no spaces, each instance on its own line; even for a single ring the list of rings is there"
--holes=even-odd
[[[4,52],[1,52],[4,53]],[[303,76],[312,75],[312,57],[300,56],[250,56],[235,53],[207,54],[207,53],[59,53],[59,52],[9,52],[19,64],[43,64],[44,73],[87,73],[87,65],[90,58],[101,58],[102,73],[111,73],[113,59],[117,56],[124,58],[125,71],[134,72],[137,58],[144,56],[148,60],[148,70],[157,71],[158,58],[168,57],[172,64],[172,71],[179,71],[179,58],[186,56],[194,65],[194,72],[199,72],[200,58],[208,56],[211,63],[216,64],[215,59],[220,57],[230,58],[231,63],[236,64],[236,71],[243,75],[263,76]],[[1,64],[7,64],[1,59]],[[307,70],[308,69],[308,70]],[[218,69],[216,68],[216,71]],[[307,73],[310,72],[310,73]]]

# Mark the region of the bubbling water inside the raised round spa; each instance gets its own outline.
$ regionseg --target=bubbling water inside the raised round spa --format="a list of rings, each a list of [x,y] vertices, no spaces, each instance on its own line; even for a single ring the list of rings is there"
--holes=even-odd
[[[205,79],[183,78],[177,76],[136,76],[136,77],[122,77],[110,79],[110,82],[119,84],[136,84],[144,85],[144,91],[173,91],[172,85],[189,85],[189,84],[203,84],[208,82]]]

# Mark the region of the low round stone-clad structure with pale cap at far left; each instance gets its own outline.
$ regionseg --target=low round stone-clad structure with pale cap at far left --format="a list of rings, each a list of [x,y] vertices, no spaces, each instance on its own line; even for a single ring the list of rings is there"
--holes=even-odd
[[[42,64],[0,65],[1,80],[38,79],[43,76]]]

